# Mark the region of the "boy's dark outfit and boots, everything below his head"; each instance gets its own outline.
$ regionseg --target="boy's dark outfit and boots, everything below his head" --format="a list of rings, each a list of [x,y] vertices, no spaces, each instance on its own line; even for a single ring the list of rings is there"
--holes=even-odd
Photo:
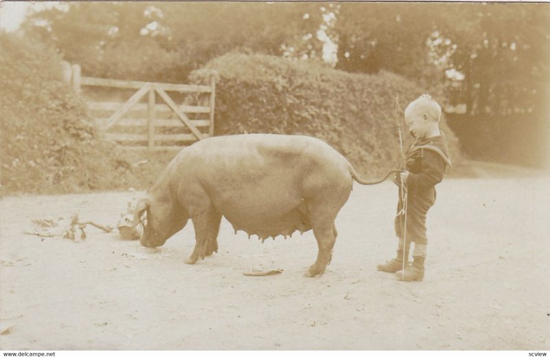
[[[415,242],[412,267],[406,272],[414,271],[409,278],[421,280],[423,278],[424,259],[426,258],[426,214],[433,206],[436,197],[435,185],[443,180],[443,174],[447,165],[451,166],[449,149],[445,134],[426,139],[416,139],[406,150],[405,169],[409,172],[406,181],[407,188],[407,214],[406,214],[406,244],[404,244],[405,215],[402,212],[403,200],[401,183],[399,184],[399,202],[397,203],[397,215],[395,217],[395,234],[399,237],[399,250],[397,259],[386,265],[378,266],[379,270],[396,272],[401,270],[399,265],[408,260],[410,242]],[[397,274],[402,273],[399,272]],[[411,280],[406,279],[405,280]]]

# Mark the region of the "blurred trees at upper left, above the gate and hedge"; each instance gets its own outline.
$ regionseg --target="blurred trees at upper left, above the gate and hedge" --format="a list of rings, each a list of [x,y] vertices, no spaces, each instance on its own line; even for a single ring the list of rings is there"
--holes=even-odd
[[[86,74],[181,82],[211,58],[240,49],[282,54],[315,28],[314,3],[68,3],[32,14],[25,32]],[[318,24],[317,24],[318,26]]]

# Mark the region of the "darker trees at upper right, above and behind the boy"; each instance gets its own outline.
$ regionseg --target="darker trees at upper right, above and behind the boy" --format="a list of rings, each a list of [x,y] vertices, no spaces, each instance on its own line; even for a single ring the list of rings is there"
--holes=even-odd
[[[549,4],[342,3],[337,67],[445,83],[471,114],[536,111],[550,83],[549,21]]]

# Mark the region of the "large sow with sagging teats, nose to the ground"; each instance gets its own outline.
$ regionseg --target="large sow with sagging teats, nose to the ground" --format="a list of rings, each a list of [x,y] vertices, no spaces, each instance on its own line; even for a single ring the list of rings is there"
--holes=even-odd
[[[143,246],[157,247],[191,219],[196,241],[188,264],[218,251],[221,217],[235,232],[262,240],[313,229],[318,255],[305,275],[321,276],[338,235],[334,221],[354,180],[369,184],[338,151],[309,136],[206,138],[168,164],[137,203],[133,226],[144,225]]]

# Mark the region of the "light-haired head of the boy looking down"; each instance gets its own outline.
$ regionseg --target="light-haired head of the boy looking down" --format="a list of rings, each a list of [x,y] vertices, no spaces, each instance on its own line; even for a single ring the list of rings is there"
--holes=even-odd
[[[439,133],[441,107],[428,94],[422,94],[405,108],[405,122],[415,138],[426,138]]]

